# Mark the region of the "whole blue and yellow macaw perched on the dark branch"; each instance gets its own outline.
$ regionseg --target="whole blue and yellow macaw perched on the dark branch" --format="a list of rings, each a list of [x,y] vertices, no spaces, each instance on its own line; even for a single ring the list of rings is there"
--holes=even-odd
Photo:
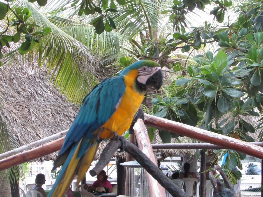
[[[163,74],[158,63],[140,60],[118,76],[104,79],[84,98],[69,128],[53,169],[63,164],[48,196],[62,197],[75,175],[83,179],[98,149],[98,139],[122,135],[143,101],[146,86],[159,89]]]

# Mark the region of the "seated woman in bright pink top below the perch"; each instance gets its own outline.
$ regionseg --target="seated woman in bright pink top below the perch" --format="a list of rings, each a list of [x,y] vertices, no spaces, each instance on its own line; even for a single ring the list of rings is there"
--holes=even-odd
[[[96,188],[101,186],[104,187],[105,190],[107,191],[107,188],[109,188],[109,192],[111,192],[112,189],[112,185],[110,184],[110,182],[107,180],[108,176],[106,175],[106,172],[104,170],[102,170],[98,175],[97,175],[97,179],[91,186],[88,186],[87,184],[85,184],[83,186],[84,189],[87,189],[89,192],[93,192],[96,191]]]

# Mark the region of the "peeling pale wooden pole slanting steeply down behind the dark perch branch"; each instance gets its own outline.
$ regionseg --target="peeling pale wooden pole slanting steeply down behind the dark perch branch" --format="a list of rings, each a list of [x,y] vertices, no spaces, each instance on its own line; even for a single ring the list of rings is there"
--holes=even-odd
[[[135,137],[138,141],[139,149],[144,154],[146,154],[147,157],[155,165],[157,165],[153,154],[153,148],[151,147],[148,131],[144,125],[143,120],[138,118],[137,122],[134,124],[133,129],[134,129]],[[148,172],[146,173],[146,178],[148,180],[149,192],[151,197],[165,196],[164,188]]]

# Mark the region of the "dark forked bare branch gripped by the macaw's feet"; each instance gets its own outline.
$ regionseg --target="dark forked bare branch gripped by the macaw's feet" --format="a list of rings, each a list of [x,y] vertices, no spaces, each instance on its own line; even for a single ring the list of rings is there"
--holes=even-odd
[[[122,137],[122,136],[121,136]],[[125,139],[126,140],[126,139]],[[100,173],[103,168],[109,163],[115,151],[121,146],[119,140],[111,140],[107,146],[103,149],[100,159],[95,167],[89,171],[93,177]],[[124,149],[129,153],[136,161],[153,177],[161,186],[163,186],[173,197],[187,197],[187,195],[176,186],[168,177],[165,176],[161,170],[151,160],[140,151],[134,144],[127,142],[127,146]]]

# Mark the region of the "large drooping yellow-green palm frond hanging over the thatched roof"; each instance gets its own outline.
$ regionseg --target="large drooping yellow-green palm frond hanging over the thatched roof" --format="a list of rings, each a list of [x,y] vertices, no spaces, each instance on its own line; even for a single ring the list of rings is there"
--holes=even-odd
[[[35,23],[41,25],[41,27],[50,27],[52,29],[52,32],[39,40],[38,45],[27,54],[24,62],[31,63],[34,58],[37,58],[39,68],[46,65],[45,69],[51,75],[50,82],[53,81],[60,94],[64,94],[67,100],[71,102],[81,103],[83,96],[88,93],[94,83],[97,83],[96,72],[99,71],[99,62],[84,44],[51,23],[31,4],[22,1],[21,4],[15,6],[27,7],[31,10]],[[49,18],[51,17],[49,16]],[[63,23],[57,21],[57,24]],[[13,55],[13,58],[17,58],[17,54],[17,51],[6,54],[3,62],[7,59],[10,60],[11,55]],[[27,61],[27,58],[29,61]]]

